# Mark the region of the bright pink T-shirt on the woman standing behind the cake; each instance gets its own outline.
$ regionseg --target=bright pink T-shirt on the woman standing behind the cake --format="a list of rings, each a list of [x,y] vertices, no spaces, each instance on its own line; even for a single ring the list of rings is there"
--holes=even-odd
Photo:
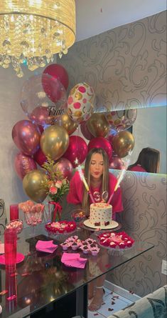
[[[109,196],[114,192],[114,186],[117,183],[117,178],[114,177],[113,174],[109,173]],[[82,204],[82,198],[83,198],[83,191],[84,191],[84,184],[82,180],[80,179],[79,172],[75,172],[74,176],[72,177],[70,181],[70,191],[67,196],[68,203],[71,204]],[[100,187],[92,188],[90,187],[90,191],[92,193],[92,196],[95,199],[95,202],[101,201],[100,196]],[[90,199],[90,204],[92,203],[92,200]],[[123,210],[122,206],[122,190],[119,187],[116,192],[114,192],[114,196],[112,197],[112,201],[110,202],[112,204],[112,212],[115,214],[116,212],[121,212]],[[114,216],[113,216],[114,219]]]

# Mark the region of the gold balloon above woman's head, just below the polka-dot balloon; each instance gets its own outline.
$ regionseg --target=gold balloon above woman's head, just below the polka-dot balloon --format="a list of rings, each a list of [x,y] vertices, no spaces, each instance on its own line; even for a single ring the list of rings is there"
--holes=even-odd
[[[104,137],[109,132],[109,122],[104,114],[92,114],[87,121],[87,128],[95,137]]]

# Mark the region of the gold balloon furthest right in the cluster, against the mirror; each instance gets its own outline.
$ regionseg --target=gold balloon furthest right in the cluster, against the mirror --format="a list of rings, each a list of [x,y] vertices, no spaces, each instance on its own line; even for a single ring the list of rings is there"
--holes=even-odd
[[[129,131],[120,131],[112,141],[114,151],[120,158],[124,158],[134,149],[134,136]]]

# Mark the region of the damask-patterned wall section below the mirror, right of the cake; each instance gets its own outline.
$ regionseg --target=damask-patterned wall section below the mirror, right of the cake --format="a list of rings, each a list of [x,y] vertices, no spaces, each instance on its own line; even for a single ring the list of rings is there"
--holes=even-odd
[[[119,214],[125,232],[153,249],[108,274],[114,284],[143,297],[166,284],[161,274],[166,259],[166,175],[126,172],[122,181],[124,212]]]

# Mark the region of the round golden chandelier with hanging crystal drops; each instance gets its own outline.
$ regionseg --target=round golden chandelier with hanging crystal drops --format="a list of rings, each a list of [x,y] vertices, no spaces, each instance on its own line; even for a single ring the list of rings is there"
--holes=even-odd
[[[75,42],[75,0],[1,0],[0,66],[34,71]]]

